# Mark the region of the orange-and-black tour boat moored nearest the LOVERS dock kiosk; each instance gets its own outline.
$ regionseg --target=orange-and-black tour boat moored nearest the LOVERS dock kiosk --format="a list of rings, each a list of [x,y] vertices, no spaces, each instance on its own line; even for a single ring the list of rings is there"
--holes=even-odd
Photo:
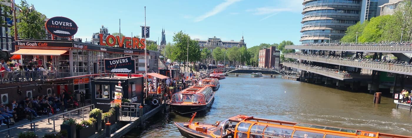
[[[214,98],[212,87],[194,85],[173,94],[169,105],[176,113],[187,115],[210,107]]]

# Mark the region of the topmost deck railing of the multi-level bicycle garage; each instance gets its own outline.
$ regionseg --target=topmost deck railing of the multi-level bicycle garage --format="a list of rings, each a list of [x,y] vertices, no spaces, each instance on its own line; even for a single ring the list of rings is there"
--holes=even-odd
[[[352,52],[379,52],[379,53],[412,53],[412,44],[316,44],[316,45],[288,45],[285,49],[304,49],[322,51],[352,51]]]

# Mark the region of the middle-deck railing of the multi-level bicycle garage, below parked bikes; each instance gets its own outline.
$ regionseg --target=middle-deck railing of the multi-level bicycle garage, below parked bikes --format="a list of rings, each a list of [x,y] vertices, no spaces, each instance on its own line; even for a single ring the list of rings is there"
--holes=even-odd
[[[337,59],[337,58],[330,58],[330,57],[318,57],[318,56],[296,55],[296,54],[285,54],[284,56],[286,58],[308,60],[308,61],[314,61],[314,62],[322,62],[322,63],[336,64],[336,65],[357,67],[357,68],[364,68],[364,69],[372,69],[372,70],[392,72],[392,73],[397,73],[397,74],[412,75],[412,66],[409,66],[409,65],[358,61],[358,60],[346,60],[346,59]]]

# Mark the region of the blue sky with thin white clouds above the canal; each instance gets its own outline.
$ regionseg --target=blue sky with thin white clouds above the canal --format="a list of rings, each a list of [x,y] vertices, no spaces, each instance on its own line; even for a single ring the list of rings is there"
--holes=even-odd
[[[18,0],[16,0],[19,2]],[[302,0],[27,0],[48,18],[64,16],[75,21],[79,30],[75,38],[91,40],[101,25],[109,33],[140,35],[140,25],[150,26],[150,40],[166,41],[173,32],[183,30],[192,39],[216,36],[224,41],[239,41],[244,35],[248,47],[260,43],[290,40],[300,44]],[[141,35],[140,35],[141,36]]]

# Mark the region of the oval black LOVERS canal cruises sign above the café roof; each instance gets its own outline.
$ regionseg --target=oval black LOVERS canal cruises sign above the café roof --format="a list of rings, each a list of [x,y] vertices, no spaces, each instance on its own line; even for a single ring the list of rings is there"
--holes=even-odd
[[[77,25],[66,17],[53,17],[46,21],[46,29],[58,37],[71,37],[77,32]]]

